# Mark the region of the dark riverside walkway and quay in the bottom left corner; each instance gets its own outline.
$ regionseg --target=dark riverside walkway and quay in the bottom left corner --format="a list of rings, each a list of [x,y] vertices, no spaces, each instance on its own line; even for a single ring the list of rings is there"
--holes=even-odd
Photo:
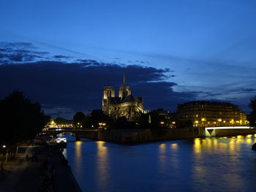
[[[23,146],[0,170],[0,191],[81,191],[57,146]]]

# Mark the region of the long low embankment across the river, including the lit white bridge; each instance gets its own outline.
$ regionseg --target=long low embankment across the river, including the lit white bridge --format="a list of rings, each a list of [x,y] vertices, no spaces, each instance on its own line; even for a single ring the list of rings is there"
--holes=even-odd
[[[145,128],[145,129],[111,129],[83,131],[75,134],[80,138],[94,139],[117,143],[142,143],[168,141],[175,139],[192,139],[204,137],[226,137],[236,135],[256,134],[255,128]]]

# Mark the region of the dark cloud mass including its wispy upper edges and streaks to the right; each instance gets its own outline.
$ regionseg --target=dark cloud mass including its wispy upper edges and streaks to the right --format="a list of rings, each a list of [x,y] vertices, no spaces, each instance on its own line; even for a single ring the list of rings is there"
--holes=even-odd
[[[49,57],[50,53],[36,49],[26,42],[0,43],[0,98],[18,89],[33,101],[39,101],[45,112],[54,116],[60,113],[65,118],[72,118],[76,111],[101,109],[103,86],[113,85],[117,93],[123,72],[126,72],[133,95],[143,96],[148,110],[164,108],[174,111],[177,104],[198,99],[238,101],[240,106],[245,106],[238,94],[256,91],[253,86],[233,87],[229,81],[222,82],[223,88],[218,86],[215,90],[197,85],[176,91],[174,88],[181,86],[171,82],[172,77],[176,77],[173,69],[142,66],[140,61],[129,65],[94,59],[72,62],[66,60],[67,55]]]

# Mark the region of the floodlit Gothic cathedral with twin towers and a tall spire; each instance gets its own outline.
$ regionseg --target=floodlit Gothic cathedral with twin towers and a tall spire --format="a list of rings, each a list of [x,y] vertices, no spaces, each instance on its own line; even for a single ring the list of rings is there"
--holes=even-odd
[[[146,113],[143,110],[142,97],[132,96],[132,91],[127,86],[125,74],[123,85],[119,88],[118,96],[112,86],[105,86],[102,93],[102,110],[112,118],[125,117],[127,120],[138,120],[140,115]]]

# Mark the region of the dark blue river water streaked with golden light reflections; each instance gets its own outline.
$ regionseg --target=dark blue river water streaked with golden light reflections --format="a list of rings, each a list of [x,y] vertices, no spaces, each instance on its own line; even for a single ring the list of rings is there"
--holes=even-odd
[[[256,135],[141,145],[66,137],[83,191],[256,191]]]

